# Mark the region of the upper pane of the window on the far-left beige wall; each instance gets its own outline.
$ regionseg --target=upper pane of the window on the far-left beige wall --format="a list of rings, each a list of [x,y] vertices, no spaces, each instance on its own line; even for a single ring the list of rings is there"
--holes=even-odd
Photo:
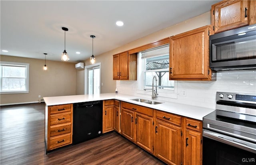
[[[26,78],[26,67],[2,66],[2,77]]]

